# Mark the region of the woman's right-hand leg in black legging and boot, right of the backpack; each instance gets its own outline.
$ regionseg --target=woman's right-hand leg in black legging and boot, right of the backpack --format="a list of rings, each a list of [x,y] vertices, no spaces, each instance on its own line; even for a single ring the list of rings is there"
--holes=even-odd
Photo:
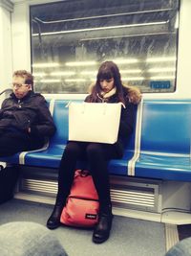
[[[117,157],[117,152],[112,145],[96,143],[89,144],[86,151],[100,205],[93,242],[100,244],[109,238],[112,227],[113,214],[107,163],[109,159]]]

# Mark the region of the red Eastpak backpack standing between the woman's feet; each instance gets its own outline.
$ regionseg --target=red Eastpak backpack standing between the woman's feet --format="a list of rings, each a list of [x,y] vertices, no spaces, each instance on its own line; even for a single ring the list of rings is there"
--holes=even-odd
[[[60,222],[70,226],[93,227],[98,220],[98,210],[98,196],[92,175],[88,171],[76,170]]]

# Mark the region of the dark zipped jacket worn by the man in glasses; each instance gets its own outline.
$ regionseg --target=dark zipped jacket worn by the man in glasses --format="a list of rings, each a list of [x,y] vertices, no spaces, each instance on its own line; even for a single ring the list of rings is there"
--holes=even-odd
[[[5,129],[29,133],[29,136],[33,137],[52,136],[55,126],[45,98],[30,91],[19,100],[11,93],[0,109],[0,131]]]

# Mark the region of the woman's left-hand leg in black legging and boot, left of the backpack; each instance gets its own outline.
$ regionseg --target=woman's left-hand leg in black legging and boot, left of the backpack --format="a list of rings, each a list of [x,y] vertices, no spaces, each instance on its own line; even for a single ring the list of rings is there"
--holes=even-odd
[[[53,207],[53,213],[47,221],[47,227],[50,229],[54,229],[60,225],[62,209],[73,184],[76,161],[82,157],[84,149],[84,143],[69,142],[62,155],[58,170],[58,191],[55,205]]]

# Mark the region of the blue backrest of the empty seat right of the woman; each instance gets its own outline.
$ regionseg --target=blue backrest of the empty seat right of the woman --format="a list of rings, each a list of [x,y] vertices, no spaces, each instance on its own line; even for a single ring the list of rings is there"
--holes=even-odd
[[[140,151],[190,153],[191,105],[147,101],[143,105]]]

